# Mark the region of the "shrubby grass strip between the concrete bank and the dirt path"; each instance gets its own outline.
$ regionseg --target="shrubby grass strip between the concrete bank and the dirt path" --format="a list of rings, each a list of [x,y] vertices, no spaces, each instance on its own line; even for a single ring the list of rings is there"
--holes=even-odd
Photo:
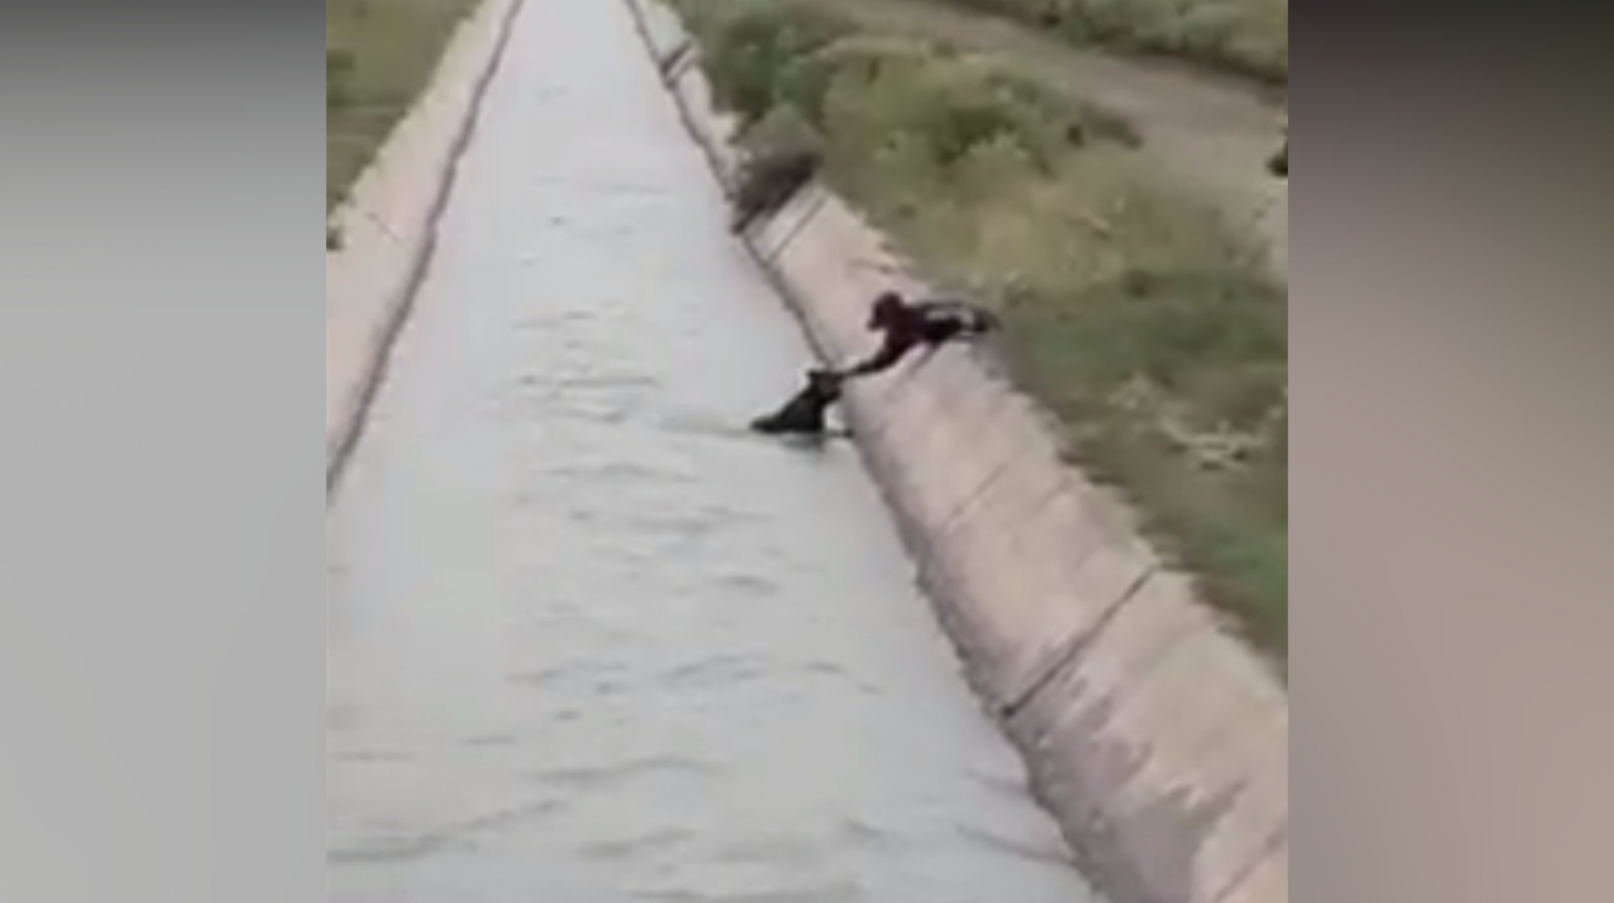
[[[747,163],[810,148],[933,282],[994,305],[1006,363],[1073,458],[1282,658],[1288,324],[1259,248],[1164,179],[1123,119],[1001,60],[812,0],[676,5],[747,123]]]

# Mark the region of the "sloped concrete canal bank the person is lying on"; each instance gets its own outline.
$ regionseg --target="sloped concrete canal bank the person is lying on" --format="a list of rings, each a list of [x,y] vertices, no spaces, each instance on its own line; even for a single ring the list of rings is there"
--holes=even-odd
[[[629,3],[731,184],[731,123],[712,108],[696,50],[665,10]],[[880,289],[923,290],[820,185],[746,242],[828,360],[867,352]],[[1285,690],[993,369],[951,348],[847,403],[976,692],[1117,903],[1286,901]]]

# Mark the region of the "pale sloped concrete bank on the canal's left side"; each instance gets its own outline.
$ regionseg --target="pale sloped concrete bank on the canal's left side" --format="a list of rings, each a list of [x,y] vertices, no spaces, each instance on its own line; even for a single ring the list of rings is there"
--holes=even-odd
[[[410,111],[331,214],[324,258],[326,489],[357,440],[436,239],[476,108],[521,0],[483,0],[449,40]]]

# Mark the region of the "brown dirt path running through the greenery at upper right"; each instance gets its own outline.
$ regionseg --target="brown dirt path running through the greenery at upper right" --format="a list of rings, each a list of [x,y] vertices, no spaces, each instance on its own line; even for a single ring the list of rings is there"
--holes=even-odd
[[[1269,248],[1272,271],[1288,281],[1288,182],[1265,169],[1283,140],[1285,97],[1273,89],[1077,48],[1006,19],[925,0],[822,2],[872,24],[1001,52],[1039,81],[1125,114],[1178,179],[1251,224]]]

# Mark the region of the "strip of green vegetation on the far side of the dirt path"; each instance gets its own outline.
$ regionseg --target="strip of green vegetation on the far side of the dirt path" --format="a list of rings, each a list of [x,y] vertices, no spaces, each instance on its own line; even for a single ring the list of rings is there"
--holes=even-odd
[[[1180,56],[1286,84],[1290,0],[939,0],[1078,44]]]

